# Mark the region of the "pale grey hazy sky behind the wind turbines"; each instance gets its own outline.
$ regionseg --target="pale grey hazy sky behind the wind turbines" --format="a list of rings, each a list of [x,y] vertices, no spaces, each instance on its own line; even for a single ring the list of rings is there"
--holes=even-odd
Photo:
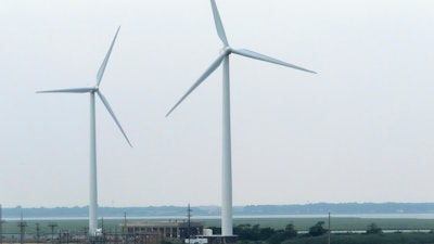
[[[434,202],[434,1],[217,0],[231,55],[233,204]],[[101,206],[219,205],[221,69],[208,0],[0,3],[3,207],[86,206],[89,95]]]

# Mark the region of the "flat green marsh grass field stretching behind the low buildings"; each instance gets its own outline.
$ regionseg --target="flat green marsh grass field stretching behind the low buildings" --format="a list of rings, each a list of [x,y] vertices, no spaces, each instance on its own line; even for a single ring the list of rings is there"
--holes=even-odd
[[[84,232],[88,229],[88,220],[25,220],[27,223],[26,233],[36,233],[36,226],[39,223],[41,234],[51,234],[50,223],[55,222],[58,227],[54,233],[59,230],[68,230],[69,232]],[[164,219],[127,219],[127,222],[143,222],[143,221],[165,221]],[[205,227],[219,227],[219,219],[192,219],[192,221],[203,221]],[[328,229],[328,218],[235,218],[233,224],[260,224],[260,227],[270,227],[276,230],[284,229],[289,223],[293,223],[298,231],[308,230],[318,221],[324,221],[324,228]],[[17,220],[5,221],[2,224],[3,234],[20,233]],[[122,232],[119,223],[123,219],[104,219],[100,220],[100,227],[103,224],[107,232]],[[411,219],[411,218],[331,218],[331,229],[341,231],[366,230],[370,223],[376,223],[383,230],[434,230],[434,219]]]

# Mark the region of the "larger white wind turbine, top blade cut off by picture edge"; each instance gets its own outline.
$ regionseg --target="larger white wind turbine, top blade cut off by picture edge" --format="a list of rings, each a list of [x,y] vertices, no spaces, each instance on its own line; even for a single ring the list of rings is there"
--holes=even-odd
[[[229,93],[229,55],[234,53],[242,56],[265,61],[308,73],[312,70],[295,66],[270,56],[266,56],[245,49],[232,49],[226,38],[225,28],[221,23],[220,15],[217,10],[215,0],[210,0],[213,9],[214,22],[216,25],[217,34],[224,43],[218,57],[212,65],[201,75],[201,77],[193,84],[193,86],[186,92],[186,94],[175,104],[175,106],[167,113],[166,117],[178,107],[178,105],[193,92],[214,70],[216,70],[222,63],[222,166],[221,166],[221,235],[233,235],[232,230],[232,166],[231,166],[231,129],[230,129],[230,93]]]

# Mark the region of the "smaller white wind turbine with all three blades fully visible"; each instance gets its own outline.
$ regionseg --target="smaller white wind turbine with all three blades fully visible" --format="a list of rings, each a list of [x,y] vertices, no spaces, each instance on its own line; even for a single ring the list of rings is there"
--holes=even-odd
[[[97,235],[98,229],[98,188],[97,188],[97,132],[95,132],[95,93],[101,99],[108,114],[115,120],[124,138],[127,140],[128,144],[132,147],[127,134],[124,132],[119,121],[117,120],[112,107],[110,106],[107,100],[100,91],[101,79],[104,75],[105,66],[107,65],[110,54],[112,53],[113,46],[116,41],[117,34],[119,33],[120,26],[117,28],[116,35],[113,38],[112,44],[105,55],[104,61],[101,64],[100,69],[97,74],[97,84],[94,87],[85,88],[72,88],[62,90],[49,90],[49,91],[38,91],[37,93],[89,93],[90,94],[90,168],[89,168],[89,234],[91,236]]]

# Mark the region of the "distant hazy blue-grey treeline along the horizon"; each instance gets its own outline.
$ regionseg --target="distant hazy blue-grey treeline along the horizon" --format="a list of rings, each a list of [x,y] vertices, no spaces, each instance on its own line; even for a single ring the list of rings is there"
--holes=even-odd
[[[197,206],[192,207],[193,216],[218,216],[220,207]],[[3,208],[3,218],[37,217],[87,217],[88,207],[54,207],[54,208]],[[339,214],[431,214],[434,213],[434,203],[316,203],[304,205],[248,205],[233,207],[233,215],[259,216],[259,215],[324,215]],[[122,217],[156,217],[187,215],[187,206],[148,206],[148,207],[100,207],[100,216]]]

